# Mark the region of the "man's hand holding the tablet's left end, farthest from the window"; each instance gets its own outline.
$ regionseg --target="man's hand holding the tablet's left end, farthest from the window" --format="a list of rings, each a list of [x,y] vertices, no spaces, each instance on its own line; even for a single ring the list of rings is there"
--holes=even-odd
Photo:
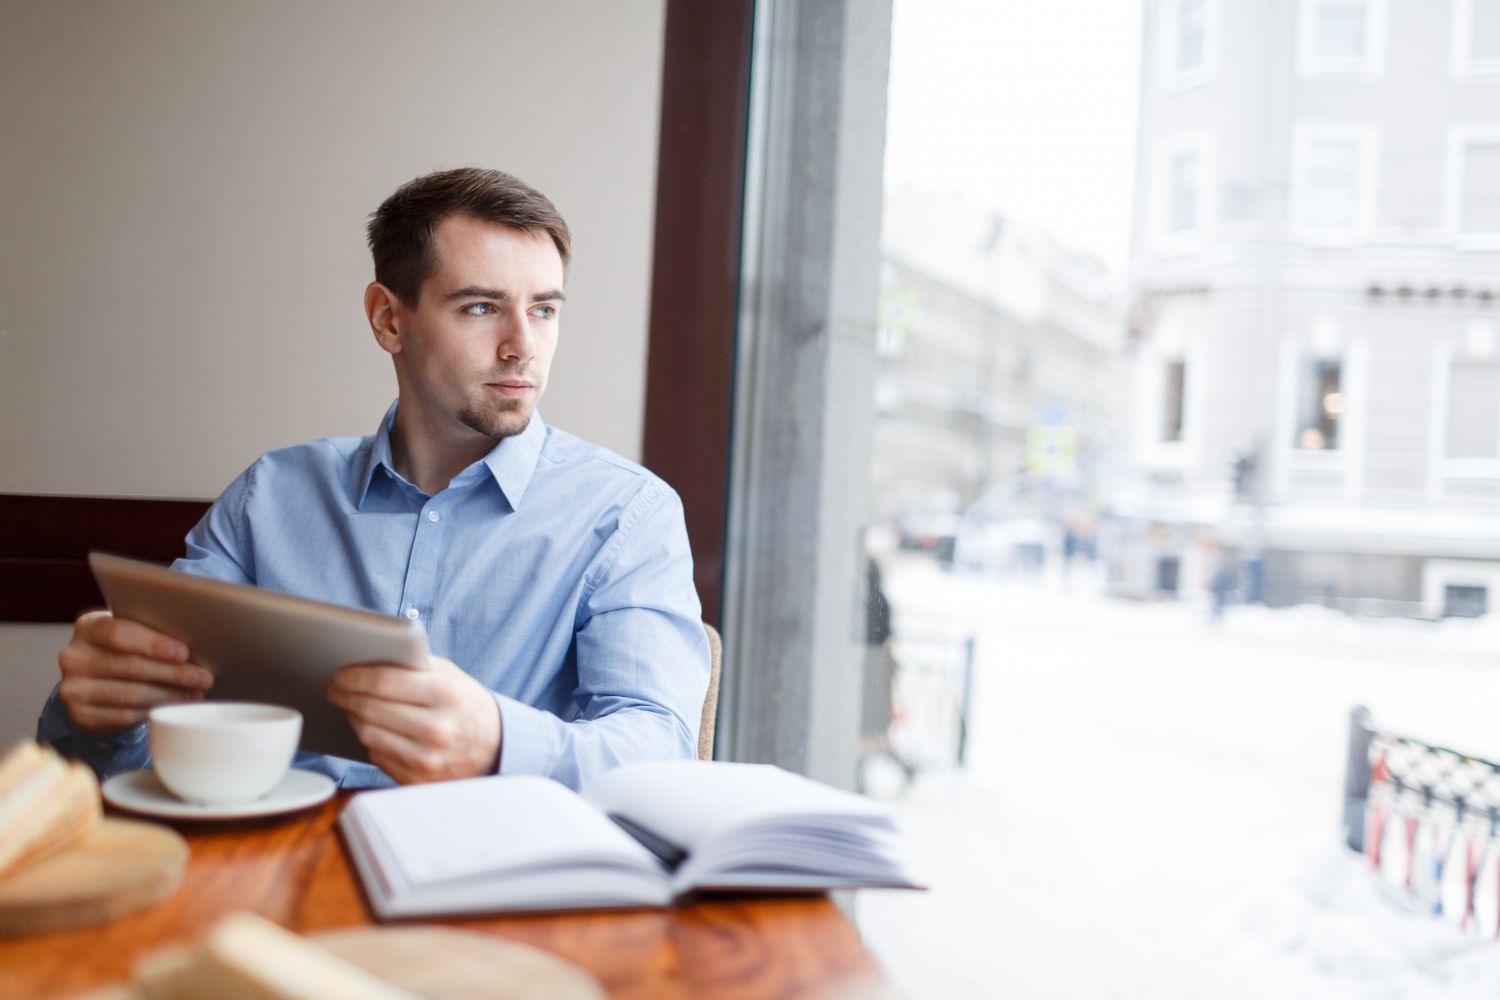
[[[129,729],[158,705],[196,702],[213,687],[213,675],[189,663],[188,646],[110,612],[88,612],[74,622],[57,666],[58,697],[74,724],[94,736]]]

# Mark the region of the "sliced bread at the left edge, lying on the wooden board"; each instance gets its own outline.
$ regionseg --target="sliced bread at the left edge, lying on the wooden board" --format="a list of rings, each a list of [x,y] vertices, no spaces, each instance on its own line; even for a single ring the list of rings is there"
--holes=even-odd
[[[99,781],[28,739],[0,759],[0,879],[86,837],[102,816]]]

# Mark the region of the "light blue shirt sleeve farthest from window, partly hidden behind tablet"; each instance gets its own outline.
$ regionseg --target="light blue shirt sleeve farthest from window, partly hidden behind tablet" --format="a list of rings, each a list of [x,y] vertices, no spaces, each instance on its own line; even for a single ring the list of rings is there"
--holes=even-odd
[[[252,582],[244,570],[248,555],[242,543],[244,502],[254,486],[254,474],[255,466],[240,474],[188,532],[186,556],[172,562],[174,570],[231,583]],[[100,780],[124,771],[140,771],[152,763],[146,723],[114,736],[94,736],[74,724],[68,706],[57,694],[57,685],[36,720],[36,739],[64,757],[82,760]]]

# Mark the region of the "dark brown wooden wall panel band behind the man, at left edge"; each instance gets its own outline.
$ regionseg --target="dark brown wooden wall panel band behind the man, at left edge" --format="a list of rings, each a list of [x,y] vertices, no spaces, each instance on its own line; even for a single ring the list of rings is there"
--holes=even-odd
[[[70,622],[104,607],[90,552],[171,562],[207,510],[207,501],[0,493],[0,622]]]

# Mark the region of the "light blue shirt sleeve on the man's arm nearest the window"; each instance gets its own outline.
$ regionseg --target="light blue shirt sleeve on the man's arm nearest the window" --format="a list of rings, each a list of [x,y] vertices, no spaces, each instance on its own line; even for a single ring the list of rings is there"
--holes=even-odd
[[[588,574],[574,642],[576,718],[495,696],[501,774],[576,789],[618,765],[698,754],[708,636],[682,504],[664,484],[636,496]]]

